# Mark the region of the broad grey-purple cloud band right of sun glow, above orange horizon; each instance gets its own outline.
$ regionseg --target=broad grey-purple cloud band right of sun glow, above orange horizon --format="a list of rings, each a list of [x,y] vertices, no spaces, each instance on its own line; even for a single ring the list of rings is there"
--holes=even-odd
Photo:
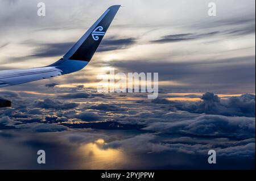
[[[255,57],[227,58],[215,61],[163,62],[113,61],[110,65],[123,72],[157,72],[159,81],[177,81],[186,89],[241,89],[255,92]],[[196,85],[196,86],[195,86]]]

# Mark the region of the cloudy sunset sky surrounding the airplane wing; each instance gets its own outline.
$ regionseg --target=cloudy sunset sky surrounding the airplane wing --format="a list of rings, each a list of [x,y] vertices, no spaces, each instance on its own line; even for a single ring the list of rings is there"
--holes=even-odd
[[[85,69],[0,90],[13,101],[0,109],[0,168],[254,168],[255,1],[214,2],[216,16],[203,0],[2,0],[0,70],[52,64],[122,7]],[[158,73],[158,98],[98,93],[110,69]],[[39,149],[55,164],[38,165]]]

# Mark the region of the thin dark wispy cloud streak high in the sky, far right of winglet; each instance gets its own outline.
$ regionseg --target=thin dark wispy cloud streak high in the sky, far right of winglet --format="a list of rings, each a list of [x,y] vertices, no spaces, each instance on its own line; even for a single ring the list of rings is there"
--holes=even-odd
[[[158,40],[152,40],[150,41],[150,43],[172,43],[172,42],[178,42],[178,41],[196,40],[204,37],[217,35],[218,33],[219,33],[218,31],[214,31],[209,33],[201,33],[201,34],[183,33],[183,34],[176,34],[176,35],[166,35],[161,37]]]

